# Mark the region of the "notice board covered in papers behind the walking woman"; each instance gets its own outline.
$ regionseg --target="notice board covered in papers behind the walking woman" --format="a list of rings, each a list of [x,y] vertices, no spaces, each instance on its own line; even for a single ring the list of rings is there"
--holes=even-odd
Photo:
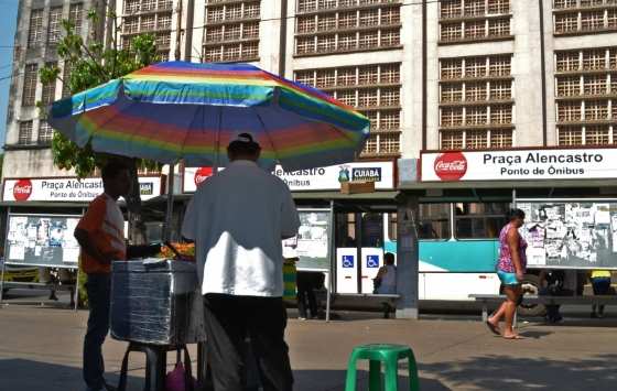
[[[519,200],[530,268],[617,269],[617,200]]]

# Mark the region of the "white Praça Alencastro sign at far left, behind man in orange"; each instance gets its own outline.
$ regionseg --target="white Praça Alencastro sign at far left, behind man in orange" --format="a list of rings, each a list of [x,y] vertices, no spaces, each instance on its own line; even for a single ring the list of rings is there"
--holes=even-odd
[[[161,177],[139,178],[141,199],[161,195]],[[102,193],[100,178],[7,178],[3,184],[4,202],[89,202]]]

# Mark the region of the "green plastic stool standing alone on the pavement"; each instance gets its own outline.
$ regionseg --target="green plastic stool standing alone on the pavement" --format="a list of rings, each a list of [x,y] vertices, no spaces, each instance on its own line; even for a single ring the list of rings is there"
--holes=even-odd
[[[356,362],[369,360],[369,391],[382,391],[381,388],[381,362],[386,365],[386,390],[398,390],[399,360],[409,360],[409,390],[419,391],[418,367],[415,357],[409,346],[390,344],[360,345],[354,348],[347,365],[347,381],[345,391],[356,391]]]

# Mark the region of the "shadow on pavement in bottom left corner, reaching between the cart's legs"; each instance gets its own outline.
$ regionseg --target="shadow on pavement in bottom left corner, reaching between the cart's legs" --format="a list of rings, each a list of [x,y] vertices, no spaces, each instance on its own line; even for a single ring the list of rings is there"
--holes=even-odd
[[[0,359],[0,390],[79,391],[84,390],[82,369],[24,359]],[[116,373],[108,374],[110,384],[118,383]],[[142,390],[143,379],[129,377],[128,390]]]

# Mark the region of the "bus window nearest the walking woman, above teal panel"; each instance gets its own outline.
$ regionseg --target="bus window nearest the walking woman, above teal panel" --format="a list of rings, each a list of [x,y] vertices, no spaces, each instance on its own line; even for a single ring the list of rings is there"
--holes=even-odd
[[[492,239],[506,224],[508,203],[457,203],[455,230],[457,239]]]

